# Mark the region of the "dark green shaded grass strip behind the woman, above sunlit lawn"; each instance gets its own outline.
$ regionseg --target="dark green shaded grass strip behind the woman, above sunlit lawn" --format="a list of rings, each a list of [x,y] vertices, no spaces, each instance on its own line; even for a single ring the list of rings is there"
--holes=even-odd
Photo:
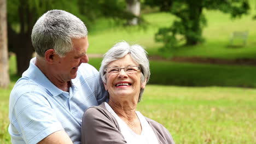
[[[89,63],[100,68],[101,58]],[[256,67],[150,61],[150,84],[256,87]]]

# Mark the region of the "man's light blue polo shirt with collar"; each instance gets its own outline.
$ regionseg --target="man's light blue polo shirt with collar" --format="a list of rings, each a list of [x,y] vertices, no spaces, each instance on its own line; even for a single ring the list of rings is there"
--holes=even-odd
[[[84,111],[107,99],[100,74],[90,64],[81,64],[68,93],[53,85],[34,65],[35,60],[31,59],[10,93],[11,143],[38,143],[63,129],[73,143],[80,143]]]

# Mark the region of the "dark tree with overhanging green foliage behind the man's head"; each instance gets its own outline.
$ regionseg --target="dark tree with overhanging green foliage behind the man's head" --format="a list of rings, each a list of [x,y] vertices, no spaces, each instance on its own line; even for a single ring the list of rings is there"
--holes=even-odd
[[[134,17],[125,10],[124,0],[8,0],[8,39],[11,41],[8,47],[16,54],[18,75],[28,68],[34,52],[31,43],[33,25],[39,16],[51,9],[63,9],[78,16],[88,28],[101,16],[117,20]]]

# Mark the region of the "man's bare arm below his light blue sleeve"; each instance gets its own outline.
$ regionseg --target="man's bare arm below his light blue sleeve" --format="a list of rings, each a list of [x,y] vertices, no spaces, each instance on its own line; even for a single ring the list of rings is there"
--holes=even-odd
[[[67,133],[64,130],[59,130],[46,136],[42,141],[39,141],[38,144],[71,144],[73,143]]]

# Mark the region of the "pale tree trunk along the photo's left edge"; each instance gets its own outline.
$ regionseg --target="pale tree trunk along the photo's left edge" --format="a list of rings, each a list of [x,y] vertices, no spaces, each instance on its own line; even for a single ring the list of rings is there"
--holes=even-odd
[[[7,49],[7,9],[6,1],[0,0],[0,87],[7,88],[10,83]]]

